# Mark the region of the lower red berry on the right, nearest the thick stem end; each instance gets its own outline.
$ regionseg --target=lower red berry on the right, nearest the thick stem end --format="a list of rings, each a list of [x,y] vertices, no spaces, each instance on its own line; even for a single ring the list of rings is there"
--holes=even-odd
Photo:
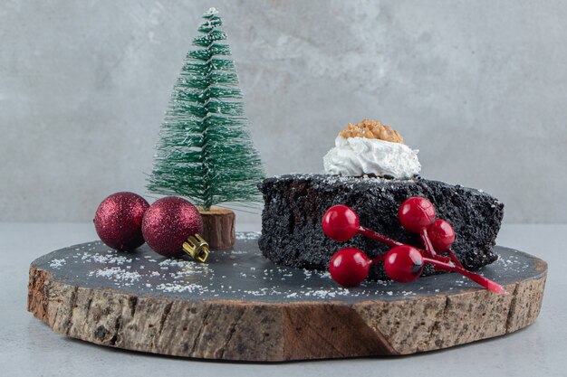
[[[399,283],[408,283],[419,278],[423,267],[423,256],[419,250],[408,245],[392,248],[384,259],[386,274]]]

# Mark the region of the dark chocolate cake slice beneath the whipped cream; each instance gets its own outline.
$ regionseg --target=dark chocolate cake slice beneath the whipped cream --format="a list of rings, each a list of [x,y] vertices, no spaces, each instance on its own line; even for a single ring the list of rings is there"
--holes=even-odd
[[[360,235],[347,242],[329,240],[322,231],[323,213],[334,204],[346,204],[359,214],[360,224],[404,243],[418,246],[418,236],[398,221],[399,204],[410,196],[427,197],[437,217],[456,231],[453,250],[467,269],[479,269],[497,258],[493,252],[504,216],[504,204],[480,190],[430,181],[288,174],[259,184],[264,194],[264,256],[294,268],[326,269],[332,254],[345,246],[364,250],[373,258],[388,248]],[[426,275],[433,269],[426,269]],[[371,278],[385,279],[377,266]]]

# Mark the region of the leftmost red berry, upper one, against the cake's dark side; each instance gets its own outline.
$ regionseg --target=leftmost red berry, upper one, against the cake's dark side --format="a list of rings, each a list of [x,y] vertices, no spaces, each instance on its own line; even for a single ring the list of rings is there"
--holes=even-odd
[[[322,217],[322,230],[332,240],[351,240],[359,229],[359,216],[346,205],[333,205]]]

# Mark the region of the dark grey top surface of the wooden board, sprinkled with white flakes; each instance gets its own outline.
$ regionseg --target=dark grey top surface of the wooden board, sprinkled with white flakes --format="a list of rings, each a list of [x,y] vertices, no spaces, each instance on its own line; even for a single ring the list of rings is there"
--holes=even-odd
[[[258,233],[238,233],[235,248],[212,251],[207,264],[166,259],[143,245],[133,252],[111,250],[100,241],[56,250],[32,266],[79,287],[114,289],[136,296],[167,296],[186,300],[255,302],[399,300],[483,289],[458,274],[419,278],[409,284],[365,281],[360,287],[338,286],[329,273],[276,266],[257,246]],[[500,258],[481,272],[503,285],[543,273],[539,259],[521,251],[496,247]],[[541,265],[540,265],[541,266]]]

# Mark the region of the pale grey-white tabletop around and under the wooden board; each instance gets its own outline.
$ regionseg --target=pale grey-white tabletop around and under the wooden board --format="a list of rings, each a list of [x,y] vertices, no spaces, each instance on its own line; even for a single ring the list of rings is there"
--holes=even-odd
[[[239,231],[259,226],[244,224]],[[565,237],[565,239],[563,239]],[[1,376],[567,376],[567,224],[505,225],[497,243],[549,264],[542,312],[512,335],[389,358],[217,363],[137,353],[57,335],[25,309],[28,268],[41,255],[97,240],[91,223],[0,223]]]

